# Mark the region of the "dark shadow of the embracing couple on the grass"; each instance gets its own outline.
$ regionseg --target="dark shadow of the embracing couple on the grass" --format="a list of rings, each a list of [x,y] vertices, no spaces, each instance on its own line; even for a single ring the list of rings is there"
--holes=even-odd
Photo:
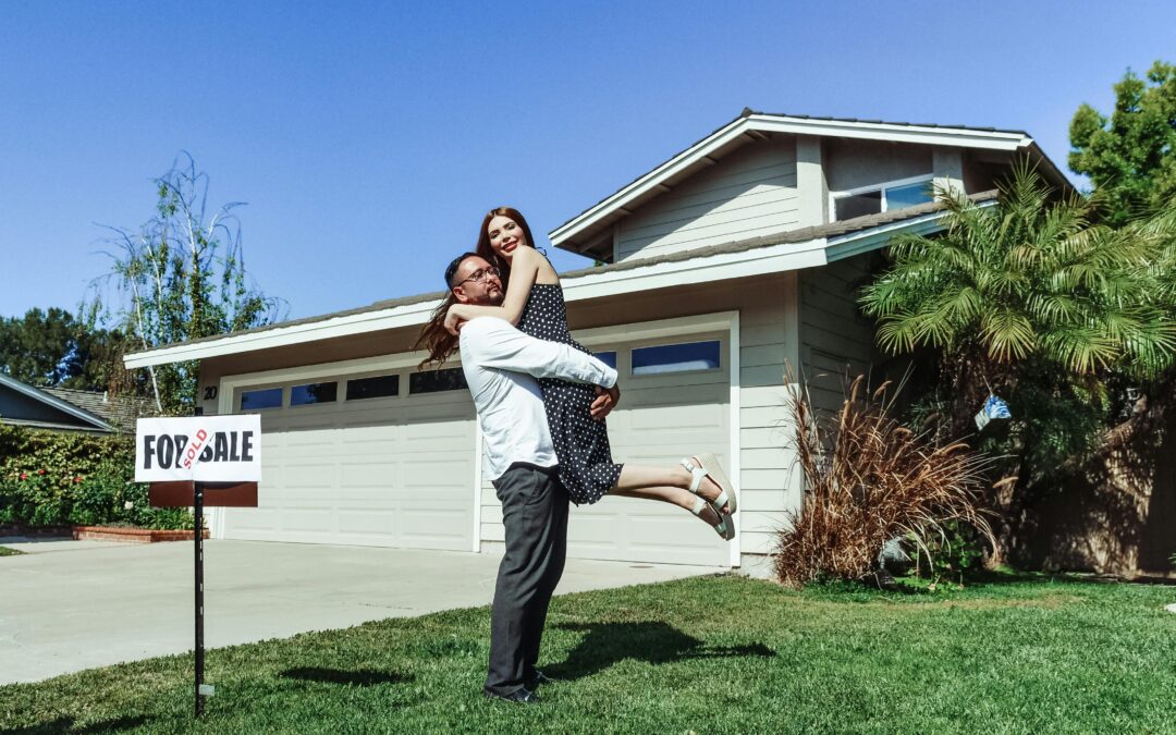
[[[543,667],[543,671],[556,680],[572,681],[592,676],[624,660],[660,664],[687,659],[776,655],[776,652],[762,643],[707,646],[663,622],[563,623],[557,627],[563,630],[582,630],[587,635],[568,654],[566,661]]]

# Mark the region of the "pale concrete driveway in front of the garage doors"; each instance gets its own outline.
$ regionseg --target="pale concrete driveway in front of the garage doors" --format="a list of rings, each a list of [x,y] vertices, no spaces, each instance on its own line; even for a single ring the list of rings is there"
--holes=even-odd
[[[193,543],[0,539],[0,684],[192,650]],[[207,541],[205,647],[488,604],[500,556]],[[568,560],[556,594],[711,567]]]

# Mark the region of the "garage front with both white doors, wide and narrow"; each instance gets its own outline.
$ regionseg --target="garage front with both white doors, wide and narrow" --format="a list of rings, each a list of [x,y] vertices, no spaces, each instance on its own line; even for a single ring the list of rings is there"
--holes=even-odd
[[[674,466],[710,452],[731,460],[735,316],[711,314],[577,332],[616,367],[609,416],[619,462]],[[221,413],[258,413],[262,481],[255,509],[220,509],[218,537],[493,550],[502,510],[482,477],[476,414],[461,369],[419,373],[415,354],[226,375]],[[481,502],[477,502],[481,488]],[[731,546],[666,503],[606,497],[574,507],[568,555],[731,564]]]

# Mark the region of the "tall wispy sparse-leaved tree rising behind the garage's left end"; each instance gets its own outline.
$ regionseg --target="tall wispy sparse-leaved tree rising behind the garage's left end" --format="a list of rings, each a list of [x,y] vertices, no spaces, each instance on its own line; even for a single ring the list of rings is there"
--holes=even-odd
[[[235,215],[242,202],[211,208],[208,181],[183,154],[155,180],[155,216],[138,232],[112,228],[113,268],[95,282],[92,306],[114,313],[129,350],[258,327],[280,315],[280,301],[266,296],[245,269]],[[195,362],[148,368],[160,412],[192,412],[196,368]]]

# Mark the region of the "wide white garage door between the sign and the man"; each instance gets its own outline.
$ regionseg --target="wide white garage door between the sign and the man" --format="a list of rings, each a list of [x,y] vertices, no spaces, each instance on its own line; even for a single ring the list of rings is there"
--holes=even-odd
[[[397,380],[403,393],[408,374]],[[267,388],[280,389],[281,406],[258,412],[259,507],[226,508],[223,536],[469,550],[475,480],[469,392],[348,400],[348,382],[314,383],[334,385],[335,400],[294,406],[306,399],[305,386],[235,392],[240,406],[242,393],[263,401]]]

